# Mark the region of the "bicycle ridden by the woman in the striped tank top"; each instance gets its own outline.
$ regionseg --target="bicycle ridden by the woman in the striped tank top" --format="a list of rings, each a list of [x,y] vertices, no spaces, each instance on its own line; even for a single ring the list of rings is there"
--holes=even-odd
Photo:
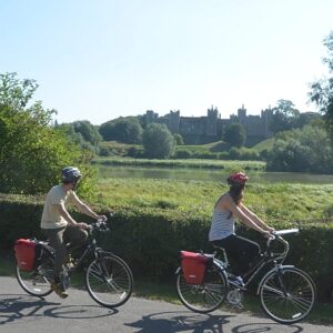
[[[200,284],[186,282],[182,268],[178,268],[176,292],[180,301],[191,311],[209,313],[216,310],[225,300],[233,306],[240,306],[243,292],[249,283],[269,264],[273,268],[261,279],[256,289],[263,312],[283,324],[293,324],[304,320],[314,306],[316,289],[307,273],[294,265],[283,265],[289,252],[289,242],[282,235],[296,233],[297,229],[281,230],[272,233],[266,241],[266,250],[260,260],[243,276],[244,284],[239,285],[228,272],[228,258],[215,258],[216,253],[204,254],[206,266]],[[274,241],[274,242],[273,242]],[[273,252],[272,244],[282,245]]]

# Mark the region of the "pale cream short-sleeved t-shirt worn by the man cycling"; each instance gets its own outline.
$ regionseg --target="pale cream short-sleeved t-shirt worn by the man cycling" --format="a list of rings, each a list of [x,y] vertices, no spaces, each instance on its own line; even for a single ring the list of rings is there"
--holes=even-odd
[[[67,226],[68,222],[60,215],[56,204],[63,203],[67,208],[70,203],[78,203],[79,199],[72,190],[65,192],[62,185],[53,186],[46,199],[40,226],[42,229],[58,229]]]

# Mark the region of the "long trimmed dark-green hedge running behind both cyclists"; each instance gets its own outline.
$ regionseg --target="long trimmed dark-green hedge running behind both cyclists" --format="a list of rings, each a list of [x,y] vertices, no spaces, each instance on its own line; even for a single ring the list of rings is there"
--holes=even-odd
[[[100,213],[108,210],[94,206]],[[39,221],[42,201],[38,198],[0,195],[1,246],[12,249],[18,238],[42,238]],[[212,251],[208,243],[210,216],[168,210],[119,210],[110,219],[110,232],[100,234],[105,250],[122,256],[134,278],[173,281],[179,251]],[[82,216],[77,216],[82,220]],[[89,219],[83,219],[89,222]],[[275,224],[275,229],[289,228]],[[249,235],[248,231],[240,233]],[[250,233],[256,240],[256,233]],[[333,296],[333,225],[305,225],[299,234],[287,235],[291,244],[285,263],[304,269],[314,279],[321,301]],[[256,240],[258,241],[258,240]]]

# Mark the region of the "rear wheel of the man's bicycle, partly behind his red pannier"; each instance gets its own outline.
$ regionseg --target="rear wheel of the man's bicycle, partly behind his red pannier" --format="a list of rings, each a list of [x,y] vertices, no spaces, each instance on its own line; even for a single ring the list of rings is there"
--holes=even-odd
[[[47,296],[51,290],[53,276],[53,259],[47,258],[36,270],[22,271],[18,265],[16,275],[20,286],[32,296]]]

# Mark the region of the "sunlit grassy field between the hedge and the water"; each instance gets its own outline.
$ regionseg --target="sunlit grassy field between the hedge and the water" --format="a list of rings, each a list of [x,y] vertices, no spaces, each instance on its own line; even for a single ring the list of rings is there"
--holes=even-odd
[[[97,202],[119,208],[150,208],[210,215],[228,186],[212,181],[100,179]],[[245,204],[266,221],[315,222],[333,215],[333,185],[249,184]]]

